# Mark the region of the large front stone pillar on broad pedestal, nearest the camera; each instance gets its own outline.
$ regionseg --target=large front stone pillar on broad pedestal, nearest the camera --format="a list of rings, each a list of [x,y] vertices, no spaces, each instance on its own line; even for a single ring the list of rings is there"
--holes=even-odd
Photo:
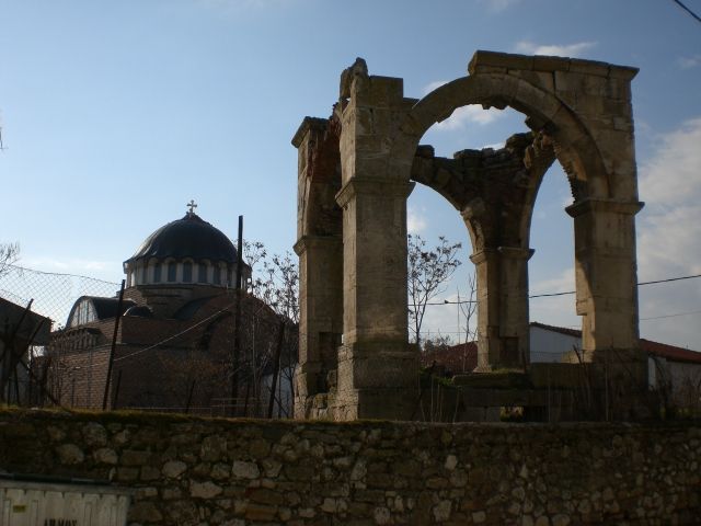
[[[353,179],[344,210],[344,340],[338,352],[337,420],[410,419],[418,356],[407,344],[407,182]]]

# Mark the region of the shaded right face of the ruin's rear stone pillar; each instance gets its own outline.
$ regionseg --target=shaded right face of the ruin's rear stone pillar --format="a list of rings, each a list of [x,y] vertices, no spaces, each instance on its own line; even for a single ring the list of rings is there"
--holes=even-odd
[[[528,328],[528,260],[532,249],[499,247],[501,363],[526,368],[530,363]]]

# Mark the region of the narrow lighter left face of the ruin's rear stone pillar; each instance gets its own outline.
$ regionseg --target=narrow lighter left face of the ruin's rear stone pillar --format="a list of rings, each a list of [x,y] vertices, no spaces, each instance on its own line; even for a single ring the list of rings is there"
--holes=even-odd
[[[478,371],[502,365],[499,340],[499,253],[482,249],[470,256],[478,282]]]

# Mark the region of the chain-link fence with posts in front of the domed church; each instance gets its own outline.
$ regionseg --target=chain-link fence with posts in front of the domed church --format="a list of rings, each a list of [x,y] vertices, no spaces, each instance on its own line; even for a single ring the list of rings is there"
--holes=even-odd
[[[12,371],[0,398],[22,405],[292,415],[294,323],[231,288],[165,286],[148,298],[130,288],[120,306],[119,288],[5,266],[0,298],[50,319],[51,332],[48,344],[36,345],[5,327],[0,354],[16,359],[4,365]]]

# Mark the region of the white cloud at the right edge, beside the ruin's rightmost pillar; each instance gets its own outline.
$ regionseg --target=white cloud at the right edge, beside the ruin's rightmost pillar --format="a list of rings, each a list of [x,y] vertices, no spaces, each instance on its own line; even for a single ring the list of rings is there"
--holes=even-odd
[[[701,273],[701,117],[659,138],[641,165],[637,216],[639,279]],[[640,288],[641,318],[701,310],[701,279]],[[701,351],[699,315],[641,321],[644,338]]]

